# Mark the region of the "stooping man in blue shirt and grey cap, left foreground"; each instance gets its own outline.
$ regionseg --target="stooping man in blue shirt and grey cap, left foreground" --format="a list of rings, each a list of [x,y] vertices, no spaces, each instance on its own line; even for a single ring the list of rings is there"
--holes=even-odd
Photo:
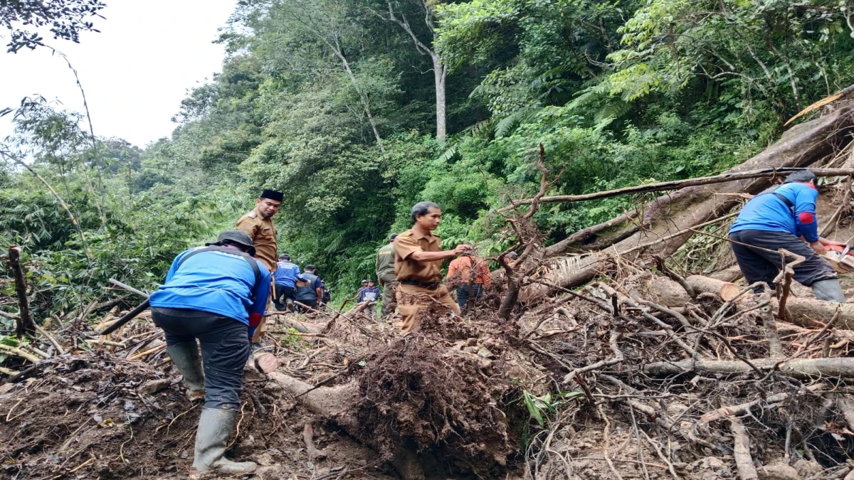
[[[151,318],[166,333],[167,352],[188,396],[204,396],[190,477],[212,471],[237,475],[257,466],[224,456],[240,410],[249,338],[270,292],[270,272],[253,254],[249,235],[223,231],[215,243],[178,255],[166,283],[149,298]]]

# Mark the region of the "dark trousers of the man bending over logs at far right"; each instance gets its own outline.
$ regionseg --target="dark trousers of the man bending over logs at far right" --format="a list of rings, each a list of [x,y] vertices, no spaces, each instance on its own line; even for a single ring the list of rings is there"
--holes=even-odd
[[[772,289],[774,288],[774,278],[783,268],[782,257],[777,253],[778,249],[787,249],[793,254],[803,255],[806,258],[804,263],[793,268],[795,272],[793,278],[799,284],[809,287],[822,280],[837,278],[836,271],[833,266],[830,266],[828,260],[824,260],[821,255],[816,254],[815,250],[810,248],[810,245],[791,233],[742,230],[730,233],[729,239],[739,242],[730,243],[730,245],[733,247],[735,261],[738,262],[748,284],[765,282]],[[740,243],[755,245],[772,251],[752,249]]]

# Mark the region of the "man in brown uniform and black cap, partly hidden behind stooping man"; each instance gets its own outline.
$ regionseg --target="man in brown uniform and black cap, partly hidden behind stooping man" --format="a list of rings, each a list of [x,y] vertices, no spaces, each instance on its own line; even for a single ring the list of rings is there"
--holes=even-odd
[[[264,190],[260,198],[255,200],[255,208],[237,220],[237,230],[245,231],[252,238],[255,247],[255,257],[261,260],[270,273],[276,271],[276,226],[272,224],[272,216],[282,206],[284,194],[275,190]],[[275,296],[272,284],[272,296]],[[257,343],[266,330],[266,320],[262,320],[252,337]]]

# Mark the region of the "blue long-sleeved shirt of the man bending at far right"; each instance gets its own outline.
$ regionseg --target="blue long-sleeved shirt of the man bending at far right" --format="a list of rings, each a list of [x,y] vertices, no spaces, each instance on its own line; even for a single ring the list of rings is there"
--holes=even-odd
[[[792,214],[786,203],[773,194],[754,196],[741,209],[729,233],[742,230],[781,231],[795,237],[803,236],[807,242],[818,240],[816,199],[818,190],[808,184],[782,184],[774,190],[789,199],[795,206]]]

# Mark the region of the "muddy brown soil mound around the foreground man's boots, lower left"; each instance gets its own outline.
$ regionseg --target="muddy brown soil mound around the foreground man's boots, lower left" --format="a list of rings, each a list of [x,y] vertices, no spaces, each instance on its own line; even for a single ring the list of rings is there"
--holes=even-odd
[[[186,478],[201,403],[173,372],[108,354],[51,360],[0,395],[0,468],[7,478]],[[229,455],[260,462],[261,478],[318,476],[377,466],[335,428],[316,427],[326,457],[309,459],[302,427],[315,417],[248,371]],[[374,477],[385,477],[371,471]]]

